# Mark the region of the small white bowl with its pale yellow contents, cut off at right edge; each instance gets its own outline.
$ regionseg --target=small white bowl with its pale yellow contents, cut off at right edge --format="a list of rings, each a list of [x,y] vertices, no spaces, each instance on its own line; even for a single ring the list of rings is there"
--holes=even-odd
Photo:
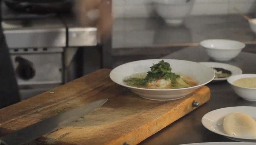
[[[248,101],[256,101],[256,74],[233,75],[228,78],[237,95]]]

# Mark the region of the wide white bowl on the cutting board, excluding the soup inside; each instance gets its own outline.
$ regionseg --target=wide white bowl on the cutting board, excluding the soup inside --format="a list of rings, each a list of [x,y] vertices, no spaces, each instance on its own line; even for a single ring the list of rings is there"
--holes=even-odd
[[[184,76],[190,76],[198,81],[198,85],[180,89],[145,89],[127,86],[123,83],[124,78],[132,74],[150,71],[150,67],[153,64],[157,64],[161,60],[162,59],[139,60],[120,65],[110,72],[110,78],[115,83],[131,89],[132,92],[140,95],[143,98],[157,101],[168,101],[186,96],[199,87],[209,83],[215,76],[215,73],[211,68],[197,62],[163,59],[165,62],[170,63],[172,72]]]

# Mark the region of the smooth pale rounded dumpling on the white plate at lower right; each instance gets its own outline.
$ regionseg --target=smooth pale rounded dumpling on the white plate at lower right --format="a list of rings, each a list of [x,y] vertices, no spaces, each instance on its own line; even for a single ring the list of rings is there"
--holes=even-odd
[[[224,130],[229,135],[243,138],[256,138],[256,122],[245,113],[230,113],[225,116]]]

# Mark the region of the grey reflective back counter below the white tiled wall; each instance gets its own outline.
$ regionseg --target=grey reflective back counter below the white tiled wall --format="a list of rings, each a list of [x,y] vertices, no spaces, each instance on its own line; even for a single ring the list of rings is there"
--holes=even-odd
[[[190,16],[182,26],[167,26],[160,18],[116,19],[113,49],[155,46],[197,46],[205,39],[233,39],[255,44],[255,34],[240,15]]]

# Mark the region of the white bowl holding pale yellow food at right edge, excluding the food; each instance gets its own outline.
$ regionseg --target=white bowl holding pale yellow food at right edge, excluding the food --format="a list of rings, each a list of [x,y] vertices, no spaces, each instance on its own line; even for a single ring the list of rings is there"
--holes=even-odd
[[[228,78],[228,83],[232,86],[237,95],[248,101],[256,101],[256,88],[246,88],[233,85],[233,82],[240,78],[256,77],[256,74],[233,75]]]

